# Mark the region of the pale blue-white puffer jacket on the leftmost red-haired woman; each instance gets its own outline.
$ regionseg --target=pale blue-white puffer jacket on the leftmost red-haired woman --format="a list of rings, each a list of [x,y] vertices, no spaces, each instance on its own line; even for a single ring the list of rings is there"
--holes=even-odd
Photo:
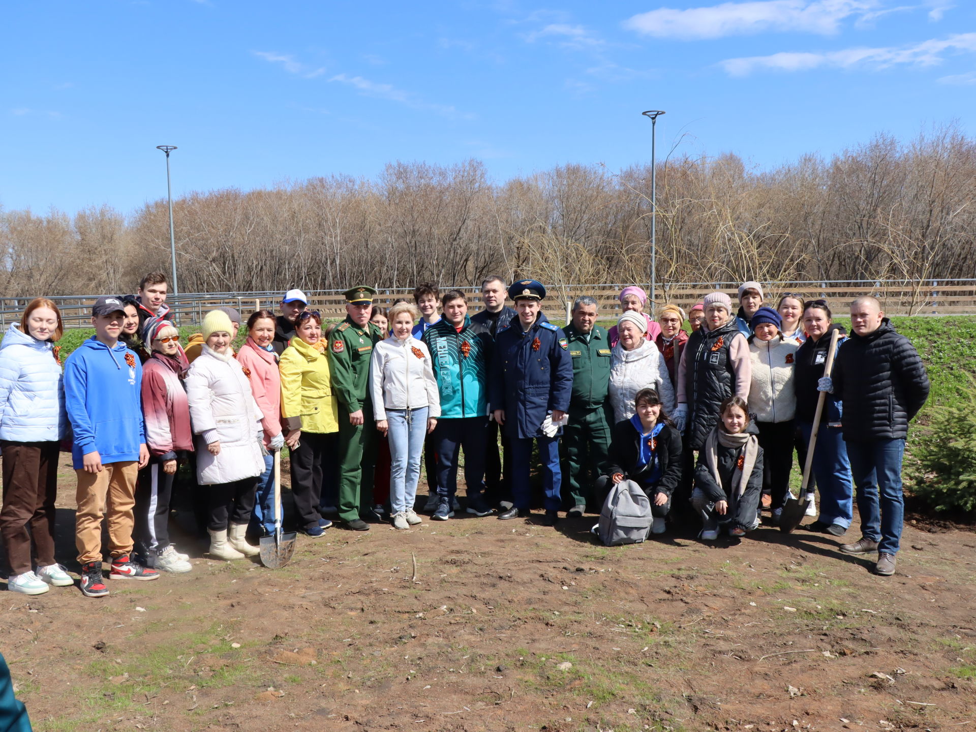
[[[0,344],[0,440],[57,442],[64,437],[64,380],[50,341],[11,323]]]

